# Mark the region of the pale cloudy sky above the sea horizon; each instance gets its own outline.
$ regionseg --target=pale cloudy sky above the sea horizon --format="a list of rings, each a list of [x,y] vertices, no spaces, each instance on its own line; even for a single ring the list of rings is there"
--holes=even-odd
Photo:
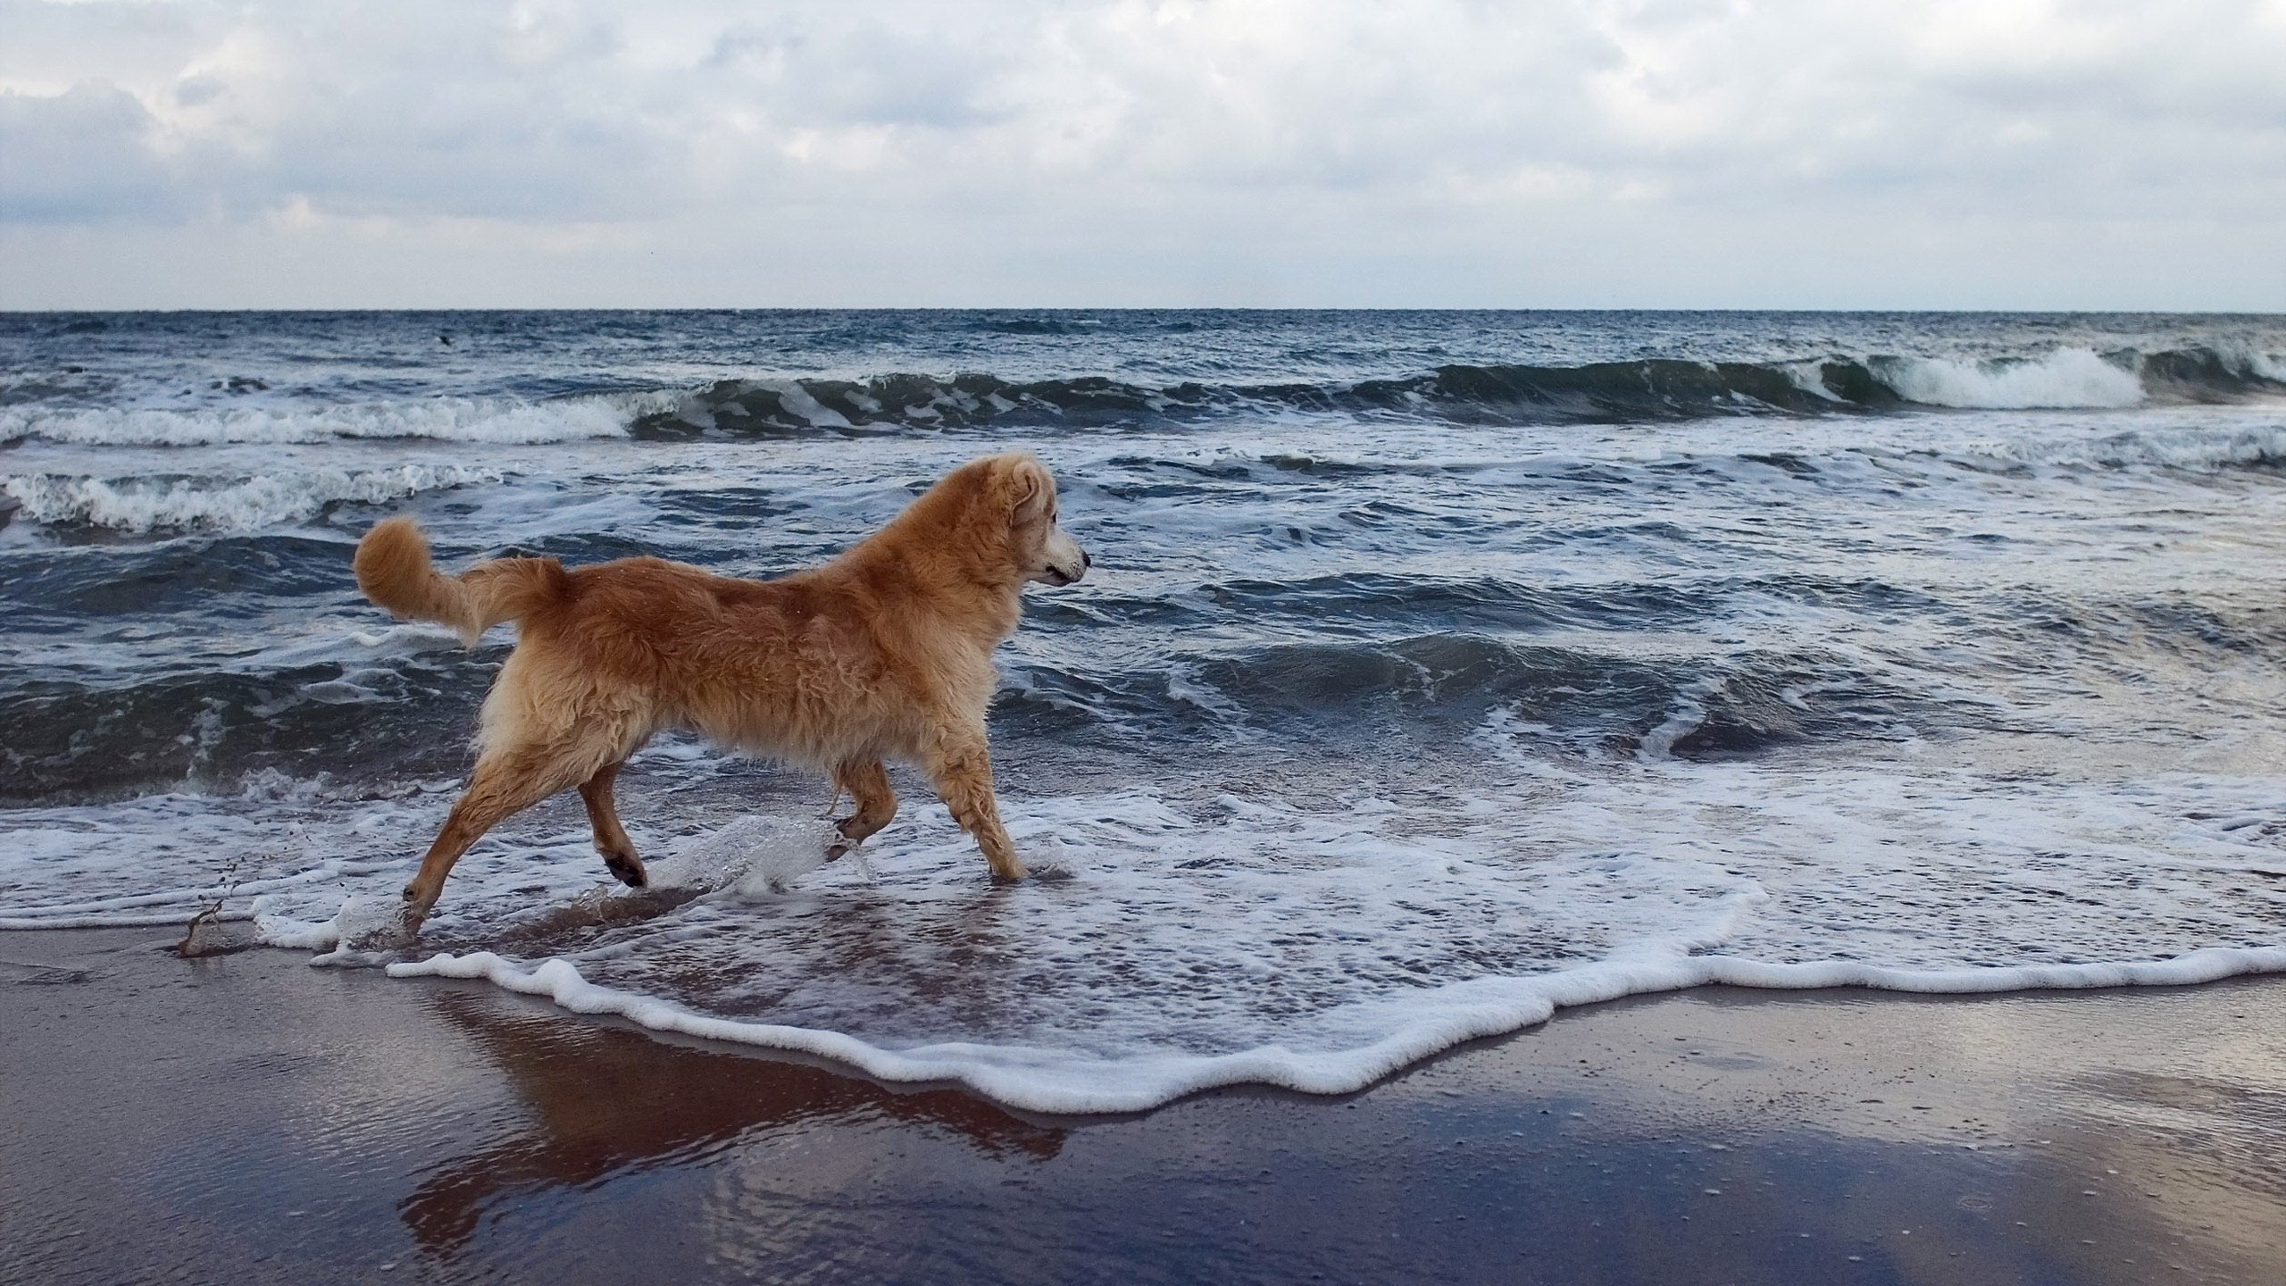
[[[0,0],[0,309],[2286,311],[2286,0]]]

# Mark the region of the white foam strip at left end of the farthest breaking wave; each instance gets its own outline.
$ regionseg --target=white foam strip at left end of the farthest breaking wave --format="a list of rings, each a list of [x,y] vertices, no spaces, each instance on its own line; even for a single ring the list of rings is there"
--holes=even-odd
[[[423,398],[361,405],[256,405],[197,410],[0,410],[0,442],[39,437],[82,446],[219,446],[229,442],[329,442],[421,437],[535,444],[624,437],[652,394],[604,394],[526,403],[514,398]]]

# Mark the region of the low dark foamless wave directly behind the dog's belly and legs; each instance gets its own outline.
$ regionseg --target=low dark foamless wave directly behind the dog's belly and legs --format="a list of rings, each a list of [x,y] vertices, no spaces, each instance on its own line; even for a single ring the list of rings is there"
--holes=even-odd
[[[343,789],[464,771],[466,732],[501,648],[405,648],[377,636],[329,650],[343,657],[281,650],[213,659],[245,668],[176,668],[176,659],[165,673],[23,675],[0,689],[0,725],[9,728],[0,803],[235,792],[249,773],[306,764],[329,764]],[[1838,657],[1694,654],[1623,632],[1566,643],[1447,632],[1175,648],[1132,668],[1036,657],[1006,666],[992,721],[997,737],[1065,748],[1269,735],[1333,751],[1440,744],[1495,707],[1545,728],[1552,744],[1685,760],[1989,723],[1975,702],[1904,691]]]

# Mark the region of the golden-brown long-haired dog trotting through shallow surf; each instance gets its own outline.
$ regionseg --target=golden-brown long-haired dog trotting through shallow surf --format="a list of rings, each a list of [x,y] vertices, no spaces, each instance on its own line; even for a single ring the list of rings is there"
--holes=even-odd
[[[519,632],[469,792],[405,886],[407,929],[469,844],[574,785],[610,874],[642,888],[610,783],[663,728],[832,773],[857,805],[832,856],[896,817],[882,760],[917,764],[992,876],[1024,879],[992,801],[992,645],[1015,632],[1024,581],[1068,586],[1088,565],[1056,526],[1056,481],[1024,453],[953,469],[832,563],[775,581],[663,558],[494,558],[446,577],[409,517],[377,524],[357,542],[366,597],[471,645],[501,620]]]

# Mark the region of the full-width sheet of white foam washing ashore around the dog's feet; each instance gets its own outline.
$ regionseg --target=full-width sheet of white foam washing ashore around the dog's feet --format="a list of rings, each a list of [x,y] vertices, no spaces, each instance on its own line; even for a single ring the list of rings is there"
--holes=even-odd
[[[823,821],[725,819],[652,863],[661,890],[700,897],[601,934],[530,927],[642,895],[604,879],[583,826],[512,826],[455,870],[425,927],[443,952],[391,973],[1116,1112],[1230,1082],[1358,1089],[1566,1005],[1705,982],[2003,991],[2286,970],[2286,844],[2261,824],[2286,787],[2270,778],[1991,780],[1907,751],[1856,767],[1822,751],[1817,771],[1566,767],[1509,716],[1477,741],[1484,780],[1406,803],[1008,794],[1020,849],[1068,872],[1015,888],[985,881],[942,805],[873,840],[878,874],[814,867]],[[219,897],[267,943],[341,947],[370,920],[354,908],[393,908],[441,808],[27,810],[7,819],[0,927],[183,922]]]

